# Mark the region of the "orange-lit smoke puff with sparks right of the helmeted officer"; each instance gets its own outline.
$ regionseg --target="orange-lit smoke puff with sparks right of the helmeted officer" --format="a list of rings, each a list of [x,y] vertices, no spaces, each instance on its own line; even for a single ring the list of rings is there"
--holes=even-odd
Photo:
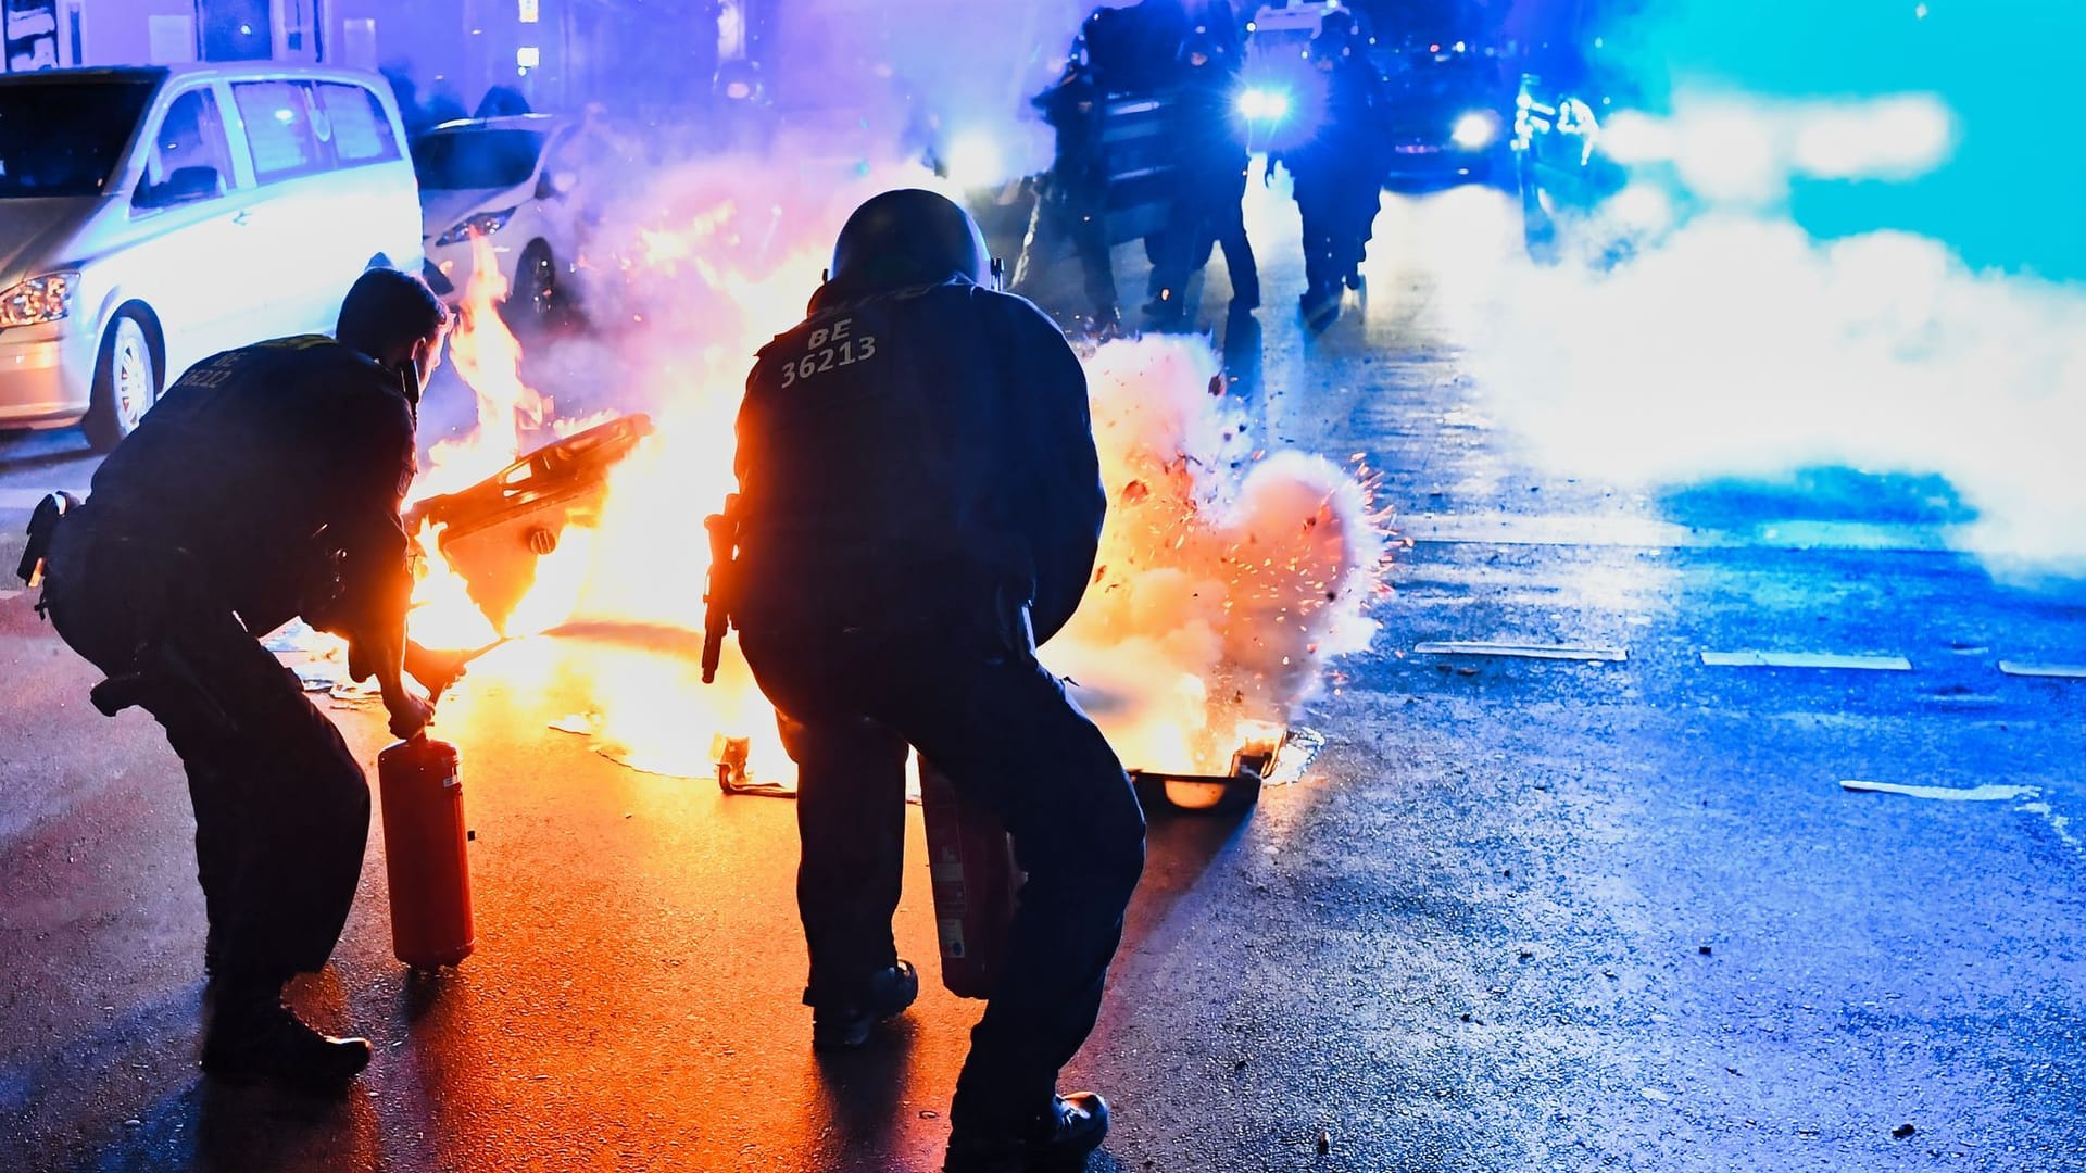
[[[1243,722],[1289,722],[1333,657],[1368,647],[1379,518],[1358,476],[1256,453],[1199,338],[1110,342],[1087,376],[1110,513],[1045,660],[1124,758],[1218,770]]]

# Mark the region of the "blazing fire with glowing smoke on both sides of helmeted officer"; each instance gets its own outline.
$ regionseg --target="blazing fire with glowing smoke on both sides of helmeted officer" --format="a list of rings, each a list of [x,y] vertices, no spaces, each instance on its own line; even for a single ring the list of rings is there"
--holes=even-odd
[[[559,357],[628,388],[655,432],[609,476],[599,528],[567,528],[538,561],[503,632],[586,641],[584,657],[565,660],[582,720],[561,728],[651,772],[707,774],[724,733],[751,739],[755,779],[795,774],[736,643],[718,683],[697,683],[701,520],[736,486],[732,422],[751,355],[801,317],[845,215],[891,184],[782,184],[795,200],[782,205],[745,198],[749,179],[715,165],[670,173],[611,215],[607,246],[584,259],[595,282],[582,301],[609,338],[565,342]],[[430,480],[444,490],[505,468],[524,422],[576,430],[522,382],[519,344],[494,311],[505,282],[490,250],[478,259],[455,351],[480,428],[434,449]],[[1206,390],[1216,363],[1199,340],[1114,342],[1087,365],[1112,505],[1087,605],[1045,660],[1081,683],[1131,766],[1222,772],[1243,743],[1279,735],[1327,655],[1366,645],[1379,520],[1366,486],[1325,461],[1256,463],[1237,407]],[[423,545],[415,637],[482,647],[490,624],[455,614],[461,580],[434,534]],[[486,668],[507,662],[522,660]]]

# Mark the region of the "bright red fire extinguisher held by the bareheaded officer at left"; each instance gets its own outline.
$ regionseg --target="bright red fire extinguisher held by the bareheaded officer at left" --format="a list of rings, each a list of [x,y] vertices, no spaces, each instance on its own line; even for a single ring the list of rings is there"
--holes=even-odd
[[[471,956],[471,870],[457,747],[426,733],[378,753],[392,952],[413,968]]]

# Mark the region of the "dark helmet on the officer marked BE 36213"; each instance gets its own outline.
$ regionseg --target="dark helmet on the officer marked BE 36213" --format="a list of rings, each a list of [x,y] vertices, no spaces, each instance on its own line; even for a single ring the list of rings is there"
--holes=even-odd
[[[870,196],[832,244],[828,280],[847,292],[926,286],[949,278],[991,282],[985,234],[947,196],[903,188]]]

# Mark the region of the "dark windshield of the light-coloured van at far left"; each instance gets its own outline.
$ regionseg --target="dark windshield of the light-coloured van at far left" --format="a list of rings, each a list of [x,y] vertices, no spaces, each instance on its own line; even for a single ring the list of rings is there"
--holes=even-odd
[[[0,198],[102,194],[154,86],[119,79],[0,86]]]

